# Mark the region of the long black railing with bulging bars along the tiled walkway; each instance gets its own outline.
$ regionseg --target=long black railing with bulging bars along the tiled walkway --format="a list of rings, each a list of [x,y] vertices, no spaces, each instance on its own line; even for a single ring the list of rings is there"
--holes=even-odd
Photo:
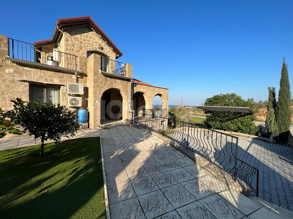
[[[238,137],[210,128],[154,116],[132,114],[132,124],[159,133],[199,154],[236,180],[243,180],[258,196],[258,169],[237,158]],[[256,178],[256,179],[255,179]],[[255,181],[256,180],[256,181]]]

